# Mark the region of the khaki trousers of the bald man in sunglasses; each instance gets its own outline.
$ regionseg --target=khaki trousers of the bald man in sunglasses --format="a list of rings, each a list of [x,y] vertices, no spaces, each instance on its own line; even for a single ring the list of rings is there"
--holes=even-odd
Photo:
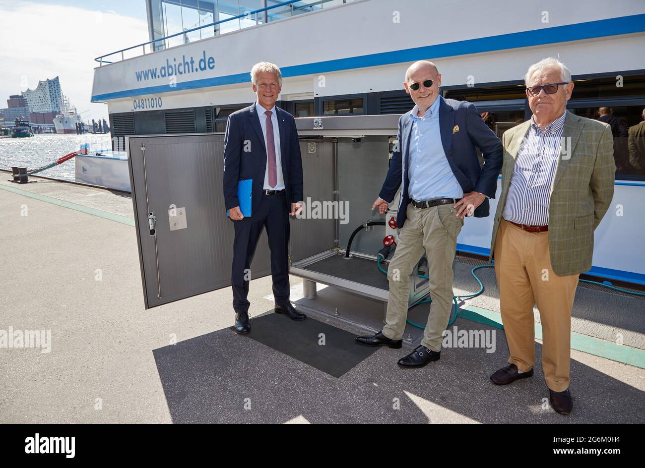
[[[408,318],[410,275],[425,252],[432,302],[421,344],[432,351],[441,351],[442,333],[448,326],[452,309],[452,262],[457,236],[464,226],[464,220],[456,217],[456,213],[452,203],[432,208],[408,205],[408,219],[399,232],[397,248],[388,266],[390,293],[386,326],[382,331],[388,338],[401,340],[403,337]]]

